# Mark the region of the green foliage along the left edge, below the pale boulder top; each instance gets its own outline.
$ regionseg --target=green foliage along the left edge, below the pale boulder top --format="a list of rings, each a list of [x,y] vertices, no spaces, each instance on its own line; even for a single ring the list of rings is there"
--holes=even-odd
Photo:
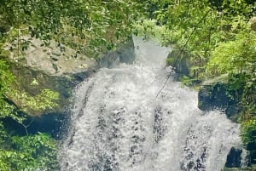
[[[9,66],[0,60],[0,119],[11,117],[17,123],[23,124],[26,115],[21,115],[21,111],[42,111],[55,107],[55,100],[58,94],[43,89],[41,94],[34,97],[20,93],[12,87],[15,77],[9,71]],[[37,86],[35,81],[33,86]],[[13,101],[10,101],[13,100]],[[14,102],[19,102],[20,106]],[[17,108],[17,107],[20,107]],[[27,132],[26,132],[27,134]],[[38,133],[31,136],[11,137],[0,123],[0,170],[57,170],[57,155],[55,142],[48,134]]]

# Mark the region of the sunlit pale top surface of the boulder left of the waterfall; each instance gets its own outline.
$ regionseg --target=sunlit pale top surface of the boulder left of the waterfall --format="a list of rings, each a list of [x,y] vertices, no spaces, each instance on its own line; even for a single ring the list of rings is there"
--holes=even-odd
[[[61,43],[51,41],[49,46],[36,38],[20,37],[20,41],[29,43],[27,49],[17,54],[16,50],[9,50],[9,58],[20,66],[30,67],[35,71],[42,71],[50,76],[65,76],[96,67],[96,60],[79,54],[75,49]],[[7,44],[5,48],[13,48]]]

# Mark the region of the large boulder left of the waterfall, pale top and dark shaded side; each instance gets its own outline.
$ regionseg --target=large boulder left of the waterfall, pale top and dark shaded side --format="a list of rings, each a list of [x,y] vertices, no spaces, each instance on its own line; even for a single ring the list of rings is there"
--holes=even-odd
[[[24,58],[17,59],[14,53],[9,55],[10,69],[18,82],[17,88],[31,95],[39,94],[44,88],[60,94],[57,108],[28,119],[28,122],[32,120],[28,128],[31,133],[37,130],[58,134],[58,128],[67,119],[62,114],[70,104],[69,100],[76,85],[93,75],[100,67],[113,67],[119,62],[130,63],[135,58],[132,39],[117,51],[102,54],[99,61],[77,54],[74,49],[58,43],[42,48],[38,39],[30,41],[31,46],[23,53]],[[38,86],[31,86],[33,80],[38,82]],[[14,127],[17,127],[15,123]]]

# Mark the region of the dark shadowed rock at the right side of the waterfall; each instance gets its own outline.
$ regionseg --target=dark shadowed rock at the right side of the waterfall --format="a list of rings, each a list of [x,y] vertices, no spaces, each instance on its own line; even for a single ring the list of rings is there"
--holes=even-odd
[[[204,83],[198,93],[198,108],[202,111],[222,110],[235,121],[241,111],[239,101],[242,92],[229,91],[229,86],[226,76]]]

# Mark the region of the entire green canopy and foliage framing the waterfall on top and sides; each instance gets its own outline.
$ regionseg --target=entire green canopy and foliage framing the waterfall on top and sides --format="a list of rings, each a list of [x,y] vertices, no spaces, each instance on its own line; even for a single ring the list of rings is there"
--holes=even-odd
[[[55,40],[95,58],[131,35],[155,37],[177,51],[178,59],[171,56],[167,65],[189,62],[189,74],[182,78],[186,85],[228,75],[230,91],[242,91],[237,122],[243,125],[244,143],[256,143],[255,11],[253,0],[1,0],[0,170],[57,168],[48,134],[20,136],[3,126],[11,117],[26,128],[27,110],[57,105],[58,94],[49,89],[32,97],[14,86],[8,55],[15,52],[17,62],[22,60],[30,46],[22,38],[27,35],[41,39],[42,46]]]

